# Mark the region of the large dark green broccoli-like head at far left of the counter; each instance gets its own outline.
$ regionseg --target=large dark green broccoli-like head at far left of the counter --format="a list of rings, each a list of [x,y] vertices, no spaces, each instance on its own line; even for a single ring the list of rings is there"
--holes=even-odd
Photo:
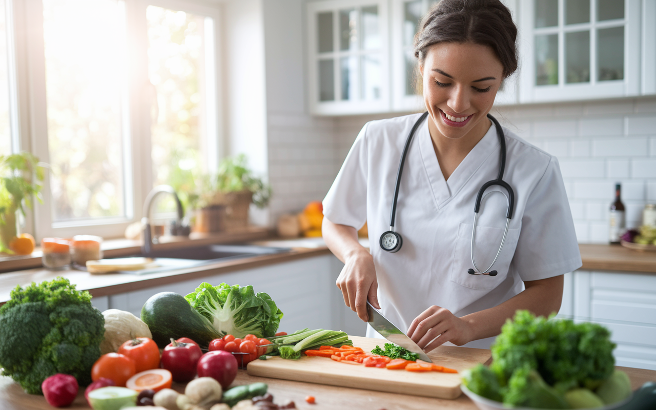
[[[81,386],[91,383],[91,367],[100,358],[104,318],[68,279],[17,286],[0,308],[0,367],[31,394],[41,383],[66,373]]]

